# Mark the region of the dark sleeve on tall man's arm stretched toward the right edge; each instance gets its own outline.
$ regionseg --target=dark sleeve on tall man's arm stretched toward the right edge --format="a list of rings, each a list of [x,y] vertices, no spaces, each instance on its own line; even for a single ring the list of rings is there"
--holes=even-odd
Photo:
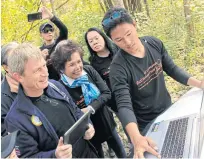
[[[157,38],[153,38],[153,40],[158,43],[161,48],[163,70],[177,82],[187,85],[188,79],[191,76],[173,62],[162,41]]]

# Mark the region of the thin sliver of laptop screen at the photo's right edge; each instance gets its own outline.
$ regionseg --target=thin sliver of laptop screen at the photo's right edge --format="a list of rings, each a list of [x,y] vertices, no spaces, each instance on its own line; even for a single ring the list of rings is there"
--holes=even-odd
[[[200,108],[200,136],[199,136],[199,154],[201,154],[204,141],[204,90],[202,94],[201,108]]]

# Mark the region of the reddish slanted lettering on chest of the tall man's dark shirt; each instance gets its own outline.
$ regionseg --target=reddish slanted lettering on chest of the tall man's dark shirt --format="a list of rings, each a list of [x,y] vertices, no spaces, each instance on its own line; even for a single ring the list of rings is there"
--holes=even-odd
[[[141,90],[147,86],[153,79],[157,78],[163,72],[161,60],[152,64],[145,72],[144,77],[136,82],[138,89]]]

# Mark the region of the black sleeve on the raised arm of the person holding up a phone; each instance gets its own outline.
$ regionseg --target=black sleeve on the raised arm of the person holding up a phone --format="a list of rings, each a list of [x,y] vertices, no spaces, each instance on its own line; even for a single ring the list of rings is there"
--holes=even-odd
[[[67,27],[62,23],[62,21],[54,16],[52,19],[50,19],[59,29],[60,35],[56,39],[56,44],[58,44],[61,40],[65,40],[68,38],[68,29]]]

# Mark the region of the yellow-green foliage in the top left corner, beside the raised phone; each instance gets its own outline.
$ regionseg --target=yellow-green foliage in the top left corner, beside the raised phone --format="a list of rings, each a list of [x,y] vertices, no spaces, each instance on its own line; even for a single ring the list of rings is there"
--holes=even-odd
[[[31,23],[27,22],[27,14],[37,12],[38,4],[36,0],[3,0],[1,1],[1,42],[2,44],[10,41],[32,41],[37,42],[37,32],[31,31],[27,39],[22,36],[29,30]]]

